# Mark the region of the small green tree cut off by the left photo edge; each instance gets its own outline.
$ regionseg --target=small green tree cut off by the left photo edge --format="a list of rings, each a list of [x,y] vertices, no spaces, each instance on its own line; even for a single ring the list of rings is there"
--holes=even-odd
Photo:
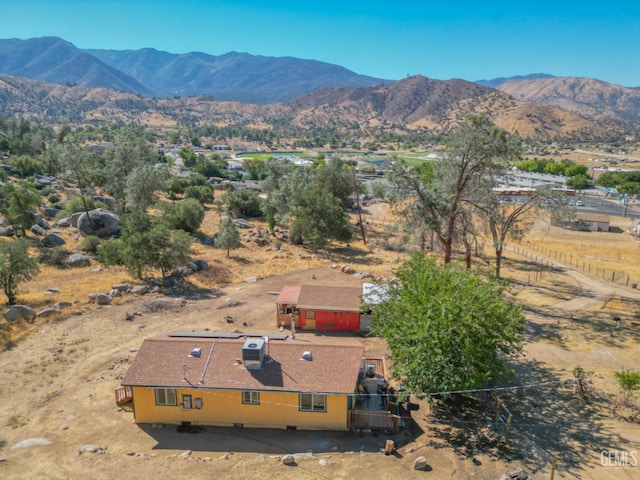
[[[29,256],[25,240],[0,243],[0,287],[9,305],[15,303],[20,284],[31,280],[38,272],[38,263]]]

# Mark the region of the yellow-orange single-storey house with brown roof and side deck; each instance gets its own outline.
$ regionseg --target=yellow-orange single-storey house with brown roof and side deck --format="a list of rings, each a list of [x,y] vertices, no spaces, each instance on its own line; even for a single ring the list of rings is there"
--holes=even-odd
[[[176,332],[144,341],[116,401],[136,423],[397,430],[387,405],[361,398],[386,380],[363,354],[355,339]]]

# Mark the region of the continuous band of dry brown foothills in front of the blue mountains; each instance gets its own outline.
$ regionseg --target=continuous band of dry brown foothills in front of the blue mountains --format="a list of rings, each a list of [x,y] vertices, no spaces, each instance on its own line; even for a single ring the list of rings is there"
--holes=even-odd
[[[598,122],[556,106],[522,102],[464,80],[422,76],[367,88],[324,89],[285,103],[257,105],[210,97],[151,99],[0,75],[0,112],[47,123],[232,125],[277,129],[284,136],[329,129],[360,139],[379,133],[447,134],[470,113],[485,113],[507,131],[538,140],[607,140],[634,128],[621,120]]]

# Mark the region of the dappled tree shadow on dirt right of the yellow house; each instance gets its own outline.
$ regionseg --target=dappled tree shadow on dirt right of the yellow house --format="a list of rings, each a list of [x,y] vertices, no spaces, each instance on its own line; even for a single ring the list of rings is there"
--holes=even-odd
[[[459,404],[437,402],[432,411],[434,437],[465,457],[484,454],[520,461],[533,473],[557,454],[562,470],[579,477],[585,458],[628,440],[606,425],[608,398],[590,401],[574,393],[573,379],[561,378],[536,361],[511,364],[521,388],[496,392],[512,415],[506,442],[494,428],[497,400],[488,394]]]

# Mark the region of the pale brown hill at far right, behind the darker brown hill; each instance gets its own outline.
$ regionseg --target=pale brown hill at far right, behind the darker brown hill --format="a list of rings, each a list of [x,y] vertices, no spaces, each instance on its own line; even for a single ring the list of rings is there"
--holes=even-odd
[[[592,120],[640,123],[640,88],[593,78],[557,77],[510,80],[499,89],[519,100],[556,105]]]

